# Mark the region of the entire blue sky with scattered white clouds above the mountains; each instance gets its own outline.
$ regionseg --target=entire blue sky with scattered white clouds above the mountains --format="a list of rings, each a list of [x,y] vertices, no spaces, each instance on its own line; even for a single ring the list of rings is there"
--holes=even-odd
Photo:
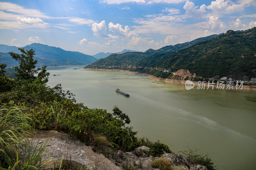
[[[94,55],[146,51],[256,26],[256,0],[0,1],[0,44]]]

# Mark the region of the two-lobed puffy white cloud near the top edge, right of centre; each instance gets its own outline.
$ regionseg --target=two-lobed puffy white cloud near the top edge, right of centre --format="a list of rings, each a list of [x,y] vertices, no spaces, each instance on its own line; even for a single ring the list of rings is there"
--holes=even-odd
[[[193,2],[187,1],[186,4],[183,6],[183,9],[186,10],[186,14],[189,17],[196,17],[196,18],[202,18],[202,14],[206,9],[206,5],[203,4],[200,6],[199,9],[197,9],[198,6],[195,6],[195,4]]]

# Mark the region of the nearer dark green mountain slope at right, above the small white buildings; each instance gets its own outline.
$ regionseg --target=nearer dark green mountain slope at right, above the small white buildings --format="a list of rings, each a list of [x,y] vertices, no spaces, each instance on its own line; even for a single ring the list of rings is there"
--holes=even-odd
[[[160,70],[188,69],[197,76],[215,75],[233,78],[255,76],[256,27],[244,32],[229,30],[212,40],[198,42],[191,47],[148,56],[132,65],[131,71],[149,73]]]

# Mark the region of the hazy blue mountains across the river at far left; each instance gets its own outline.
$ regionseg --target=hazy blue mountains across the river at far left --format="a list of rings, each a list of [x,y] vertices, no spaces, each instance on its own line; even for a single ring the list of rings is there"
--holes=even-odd
[[[95,62],[97,59],[76,51],[66,51],[61,48],[52,47],[40,43],[33,43],[24,47],[33,49],[36,53],[36,66],[60,66],[60,65],[86,65]],[[20,53],[18,47],[0,44],[0,63],[6,63],[7,67],[18,65],[8,52]]]

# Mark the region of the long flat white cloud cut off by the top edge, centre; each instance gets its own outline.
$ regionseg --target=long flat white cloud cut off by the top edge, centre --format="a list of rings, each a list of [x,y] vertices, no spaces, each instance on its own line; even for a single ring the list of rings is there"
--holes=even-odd
[[[153,4],[153,3],[167,3],[178,4],[185,0],[99,0],[101,3],[107,4],[123,4],[123,3],[140,3],[140,4]]]

